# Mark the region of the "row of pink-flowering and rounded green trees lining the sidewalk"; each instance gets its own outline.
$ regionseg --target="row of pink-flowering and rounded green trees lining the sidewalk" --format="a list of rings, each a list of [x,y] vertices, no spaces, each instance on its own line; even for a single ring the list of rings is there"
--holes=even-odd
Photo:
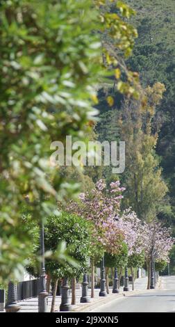
[[[45,225],[47,289],[53,282],[53,299],[51,312],[55,308],[58,281],[64,277],[72,280],[72,304],[76,303],[75,283],[83,273],[90,274],[91,297],[94,297],[94,269],[105,255],[106,284],[108,287],[109,269],[117,267],[120,278],[125,266],[133,269],[147,264],[148,288],[150,288],[150,269],[152,256],[159,267],[164,267],[169,260],[169,250],[174,239],[170,231],[157,221],[142,223],[131,208],[122,211],[120,204],[124,188],[119,181],[111,182],[107,187],[104,180],[99,180],[91,191],[81,193],[78,202],[70,201],[65,207],[58,206],[60,216],[50,216]],[[28,218],[27,218],[28,219]],[[24,215],[24,220],[26,216]],[[38,244],[38,227],[33,225],[33,257],[28,262],[27,270],[38,276],[36,261]],[[65,239],[69,255],[74,260],[58,263],[56,253],[60,239]],[[51,251],[51,257],[47,253]]]

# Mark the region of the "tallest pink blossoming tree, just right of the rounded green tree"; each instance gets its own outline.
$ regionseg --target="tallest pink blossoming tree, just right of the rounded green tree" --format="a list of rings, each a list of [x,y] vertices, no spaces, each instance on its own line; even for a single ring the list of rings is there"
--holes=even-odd
[[[87,218],[94,224],[94,252],[91,256],[92,294],[94,297],[94,264],[101,260],[103,253],[112,255],[119,253],[124,240],[124,233],[118,227],[117,219],[120,214],[120,202],[124,188],[119,181],[110,183],[99,180],[95,189],[81,193],[79,202],[69,202],[67,210]]]

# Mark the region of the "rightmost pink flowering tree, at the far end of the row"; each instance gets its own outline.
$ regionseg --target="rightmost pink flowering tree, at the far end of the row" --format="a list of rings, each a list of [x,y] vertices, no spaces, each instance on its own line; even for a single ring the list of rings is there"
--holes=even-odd
[[[158,221],[144,223],[142,232],[142,242],[148,270],[148,285],[151,281],[151,259],[155,262],[169,262],[169,251],[174,245],[174,239],[171,237],[171,230],[163,227]]]

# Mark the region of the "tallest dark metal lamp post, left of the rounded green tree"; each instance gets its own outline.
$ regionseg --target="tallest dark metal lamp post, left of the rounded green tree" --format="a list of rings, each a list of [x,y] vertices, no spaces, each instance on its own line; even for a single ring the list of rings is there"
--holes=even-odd
[[[44,223],[40,226],[40,293],[38,294],[38,312],[47,312],[46,271],[44,262]]]

